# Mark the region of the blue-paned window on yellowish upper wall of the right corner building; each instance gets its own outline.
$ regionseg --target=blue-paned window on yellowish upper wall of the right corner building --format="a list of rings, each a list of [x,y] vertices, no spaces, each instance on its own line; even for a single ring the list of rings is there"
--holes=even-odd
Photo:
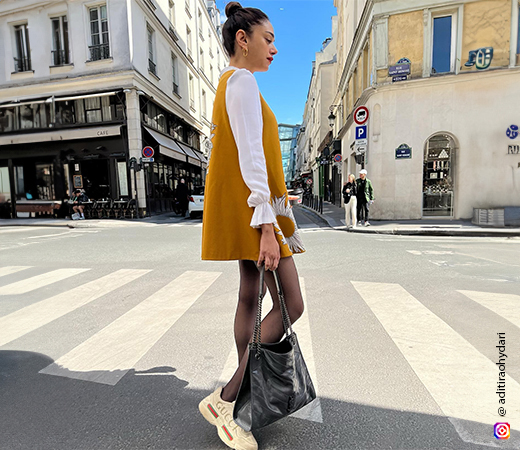
[[[432,74],[454,71],[453,16],[433,18]]]

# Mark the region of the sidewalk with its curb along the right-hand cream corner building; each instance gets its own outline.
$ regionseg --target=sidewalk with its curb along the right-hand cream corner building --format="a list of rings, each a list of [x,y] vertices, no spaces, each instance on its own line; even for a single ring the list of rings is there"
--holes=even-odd
[[[424,220],[370,220],[369,227],[345,228],[345,210],[329,202],[323,202],[320,214],[307,206],[300,205],[323,220],[331,228],[350,233],[398,234],[407,236],[494,236],[520,237],[520,228],[483,228],[469,220],[424,219]]]

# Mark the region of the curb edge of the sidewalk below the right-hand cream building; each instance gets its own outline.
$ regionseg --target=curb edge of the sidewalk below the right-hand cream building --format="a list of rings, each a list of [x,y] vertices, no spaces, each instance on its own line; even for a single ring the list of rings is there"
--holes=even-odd
[[[337,225],[336,221],[329,219],[326,215],[315,211],[305,205],[299,205],[307,211],[316,214],[328,223],[330,228],[337,231],[343,231],[348,233],[365,233],[365,234],[386,234],[386,235],[401,235],[401,236],[466,236],[466,237],[520,237],[520,230],[507,230],[507,229],[489,229],[489,228],[477,228],[477,229],[461,229],[461,228],[414,228],[414,229],[402,229],[402,228],[379,228],[376,227],[357,227],[357,228],[344,228],[344,225]],[[384,225],[383,225],[384,226]]]

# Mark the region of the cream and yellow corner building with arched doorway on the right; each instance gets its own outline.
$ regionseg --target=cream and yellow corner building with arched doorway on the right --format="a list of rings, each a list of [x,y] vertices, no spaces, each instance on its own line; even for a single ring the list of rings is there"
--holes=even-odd
[[[371,216],[468,219],[520,206],[519,1],[335,6],[334,139],[345,177],[368,170]]]

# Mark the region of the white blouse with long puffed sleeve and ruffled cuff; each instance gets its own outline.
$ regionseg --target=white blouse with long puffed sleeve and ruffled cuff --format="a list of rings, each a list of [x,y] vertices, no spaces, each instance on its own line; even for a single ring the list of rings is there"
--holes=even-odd
[[[238,148],[240,172],[251,191],[247,204],[255,208],[250,225],[260,228],[263,223],[276,223],[274,210],[269,203],[271,192],[267,182],[267,169],[262,143],[263,120],[260,91],[253,74],[247,69],[235,70],[229,77],[226,89],[226,110],[231,131]]]

